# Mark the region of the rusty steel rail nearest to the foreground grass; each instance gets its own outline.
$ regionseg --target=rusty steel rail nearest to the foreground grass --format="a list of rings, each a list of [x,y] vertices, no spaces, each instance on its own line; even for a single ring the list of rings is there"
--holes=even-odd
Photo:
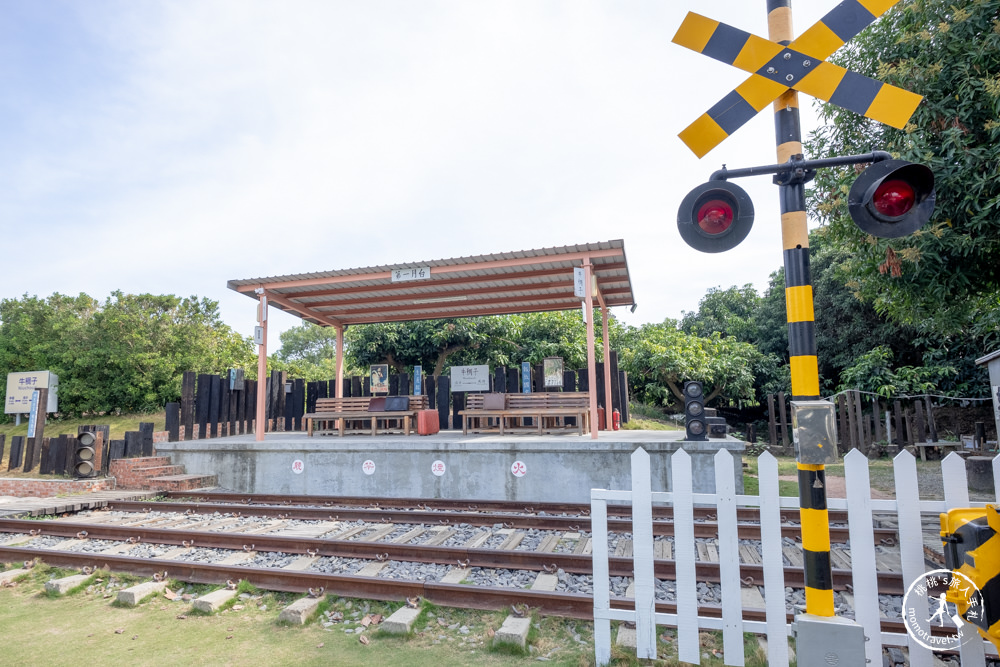
[[[265,590],[305,593],[309,589],[322,588],[324,594],[339,595],[368,600],[401,600],[416,597],[434,604],[461,609],[506,609],[511,605],[526,604],[542,614],[593,620],[594,600],[580,593],[560,593],[532,591],[522,588],[500,588],[496,586],[469,586],[466,584],[442,584],[405,579],[379,579],[345,574],[320,574],[267,568],[236,567],[232,565],[212,565],[186,561],[151,561],[147,558],[104,554],[81,554],[76,552],[32,550],[23,547],[0,546],[0,561],[16,562],[38,558],[49,565],[59,567],[94,567],[109,571],[129,572],[142,576],[153,576],[166,571],[167,577],[195,584],[223,585],[232,580],[245,580]],[[634,609],[635,601],[613,597],[611,606],[615,609]],[[690,607],[685,606],[687,612]],[[676,614],[677,605],[657,602],[659,613]],[[722,607],[718,605],[697,605],[699,616],[722,618]],[[766,621],[763,609],[743,608],[746,621]],[[792,614],[785,615],[785,622],[794,620]],[[902,621],[881,619],[883,632],[905,634]],[[947,634],[947,628],[933,628],[935,634]]]

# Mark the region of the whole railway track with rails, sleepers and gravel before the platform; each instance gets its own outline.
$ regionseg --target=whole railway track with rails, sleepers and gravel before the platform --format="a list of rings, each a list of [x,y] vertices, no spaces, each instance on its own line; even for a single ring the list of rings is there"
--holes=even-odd
[[[412,502],[410,502],[412,500]],[[591,618],[589,507],[535,504],[167,494],[163,501],[115,502],[42,520],[0,519],[0,560],[38,558],[51,565],[97,567],[138,575],[167,572],[192,583],[246,579],[261,588],[341,596],[402,599],[420,596],[464,608],[527,604],[544,614]],[[609,567],[613,605],[628,607],[631,590],[629,508],[609,507]],[[720,616],[717,525],[696,508],[699,613]],[[797,514],[782,526],[789,618],[801,611],[803,587]],[[744,618],[763,620],[763,572],[756,513],[742,511],[740,573]],[[853,601],[845,520],[831,512],[831,555],[838,613]],[[896,533],[876,526],[879,592],[892,604],[903,593]],[[676,611],[673,524],[654,514],[657,609]],[[903,632],[898,618],[883,630]]]

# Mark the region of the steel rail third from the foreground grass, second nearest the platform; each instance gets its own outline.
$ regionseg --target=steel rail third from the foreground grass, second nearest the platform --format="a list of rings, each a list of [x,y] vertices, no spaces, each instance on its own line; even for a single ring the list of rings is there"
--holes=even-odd
[[[122,512],[193,512],[196,514],[232,513],[241,516],[259,516],[300,520],[344,520],[373,521],[382,523],[429,523],[438,525],[469,524],[471,526],[492,526],[503,524],[505,528],[526,528],[540,530],[578,531],[590,529],[590,517],[537,516],[527,514],[482,514],[479,512],[435,512],[428,510],[397,510],[385,508],[314,508],[297,507],[295,505],[229,505],[191,502],[136,502],[123,501],[109,503],[108,507]],[[630,519],[608,519],[608,530],[618,533],[632,532]],[[895,540],[896,531],[886,528],[875,528],[875,539]],[[759,540],[760,524],[740,523],[737,526],[740,539]],[[659,537],[674,534],[673,522],[660,520],[653,522],[653,535]],[[695,537],[716,537],[719,534],[715,521],[698,521],[694,523]],[[799,538],[799,526],[783,524],[782,537]],[[850,539],[847,526],[831,526],[830,539],[837,544],[844,544]]]

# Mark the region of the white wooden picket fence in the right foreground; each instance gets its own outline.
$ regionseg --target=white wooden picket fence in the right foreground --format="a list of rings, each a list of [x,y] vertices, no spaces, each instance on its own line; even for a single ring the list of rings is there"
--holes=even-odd
[[[611,621],[634,623],[636,654],[639,658],[656,658],[656,626],[677,629],[678,658],[700,664],[700,630],[721,630],[723,660],[727,665],[743,665],[743,633],[767,637],[767,660],[772,667],[788,666],[788,641],[791,626],[785,617],[785,581],[782,565],[781,511],[798,509],[797,497],[782,497],[778,492],[778,461],[768,453],[757,459],[759,496],[737,495],[735,475],[742,473],[734,466],[728,451],[715,456],[714,494],[693,493],[691,457],[680,450],[671,459],[673,491],[653,492],[650,486],[649,455],[643,449],[632,454],[632,490],[591,491],[591,522],[593,530],[594,567],[594,644],[597,664],[611,659]],[[933,667],[931,652],[905,633],[882,632],[879,624],[878,584],[875,569],[875,541],[872,512],[894,513],[898,519],[900,561],[904,584],[933,568],[924,563],[921,513],[935,517],[955,507],[982,507],[970,503],[965,461],[958,454],[949,454],[941,462],[944,500],[919,500],[916,461],[909,452],[900,452],[893,460],[897,500],[872,500],[868,459],[854,450],[844,457],[847,498],[827,498],[831,510],[847,510],[851,543],[851,574],[853,577],[855,621],[865,629],[865,651],[869,665],[882,664],[883,646],[909,649],[910,665]],[[993,478],[1000,479],[1000,456],[993,459]],[[1000,489],[997,491],[1000,502]],[[612,609],[608,575],[608,502],[631,503],[632,549],[634,563],[635,607]],[[653,578],[653,504],[673,506],[674,559],[676,563],[677,613],[655,610]],[[722,617],[698,615],[697,578],[695,576],[695,505],[718,508],[719,570],[722,588]],[[765,621],[743,619],[740,593],[740,557],[737,534],[737,507],[760,508],[761,551],[764,572]],[[910,600],[910,602],[913,602]],[[919,603],[919,601],[918,601]],[[917,605],[914,605],[917,606]],[[924,605],[926,606],[926,605]],[[917,608],[918,618],[927,616],[926,609]],[[924,625],[926,629],[926,624]],[[800,650],[808,650],[800,647]],[[970,641],[961,650],[963,667],[986,664],[985,655],[995,655],[989,642]]]

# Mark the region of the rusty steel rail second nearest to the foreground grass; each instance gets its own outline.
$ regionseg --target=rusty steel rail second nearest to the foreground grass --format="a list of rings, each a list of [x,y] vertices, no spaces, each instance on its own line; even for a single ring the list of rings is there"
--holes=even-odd
[[[0,532],[25,533],[35,536],[82,538],[88,540],[134,540],[137,543],[167,544],[175,546],[206,547],[281,552],[291,554],[311,554],[340,558],[359,558],[378,561],[408,561],[435,563],[462,567],[492,569],[513,569],[533,571],[555,571],[562,569],[574,574],[592,574],[592,557],[583,554],[558,554],[539,551],[507,551],[497,549],[470,549],[466,547],[429,547],[413,544],[385,542],[360,542],[354,540],[328,540],[308,537],[280,537],[272,535],[247,535],[241,533],[220,533],[201,530],[172,530],[143,526],[109,526],[106,524],[81,524],[61,521],[31,521],[23,519],[0,519]],[[30,547],[29,547],[30,548]],[[39,550],[44,551],[44,550]],[[100,558],[101,554],[93,554]],[[157,562],[154,560],[153,562]],[[159,561],[167,562],[167,561]],[[182,561],[183,562],[183,561]],[[631,558],[610,557],[608,569],[611,576],[631,577]],[[660,579],[674,580],[676,566],[673,559],[657,559],[653,562],[654,574]],[[700,561],[695,564],[698,581],[718,583],[719,563]],[[788,586],[805,585],[804,572],[800,567],[784,568],[785,583]],[[763,565],[740,564],[740,577],[747,585],[763,585]],[[902,574],[879,572],[879,590],[883,594],[902,595],[904,592]],[[834,570],[833,586],[836,590],[846,590],[853,585],[850,570]]]

